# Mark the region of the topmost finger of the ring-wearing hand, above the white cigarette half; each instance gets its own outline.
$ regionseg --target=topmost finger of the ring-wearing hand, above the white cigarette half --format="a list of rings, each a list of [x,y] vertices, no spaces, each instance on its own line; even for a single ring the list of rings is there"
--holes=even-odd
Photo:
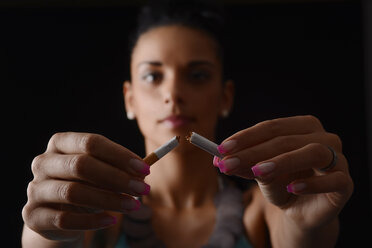
[[[294,116],[268,120],[244,129],[227,138],[218,146],[221,154],[231,154],[278,136],[324,132],[320,121],[314,116]]]

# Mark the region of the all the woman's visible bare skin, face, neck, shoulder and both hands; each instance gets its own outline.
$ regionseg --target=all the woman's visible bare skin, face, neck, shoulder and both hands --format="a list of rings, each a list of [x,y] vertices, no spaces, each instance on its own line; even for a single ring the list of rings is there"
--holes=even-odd
[[[222,83],[216,51],[207,34],[182,26],[157,27],[139,38],[132,81],[124,83],[123,93],[147,153],[189,131],[214,139],[217,120],[231,109],[234,91],[231,81]],[[182,117],[182,125],[165,121],[169,116]],[[322,172],[332,160],[328,146],[338,160]],[[245,233],[254,247],[334,246],[337,216],[353,190],[337,135],[326,132],[313,116],[294,116],[248,127],[219,148],[226,156],[213,163],[222,173],[257,181],[243,199]],[[211,156],[182,140],[151,173],[140,161],[100,135],[54,135],[32,163],[23,246],[88,246],[94,230],[108,227],[115,236],[119,225],[112,216],[120,222],[122,214],[136,207],[132,196],[147,193],[150,185],[143,202],[153,209],[157,236],[167,247],[200,247],[215,224],[218,171]],[[267,164],[260,168],[267,162],[270,172]]]

